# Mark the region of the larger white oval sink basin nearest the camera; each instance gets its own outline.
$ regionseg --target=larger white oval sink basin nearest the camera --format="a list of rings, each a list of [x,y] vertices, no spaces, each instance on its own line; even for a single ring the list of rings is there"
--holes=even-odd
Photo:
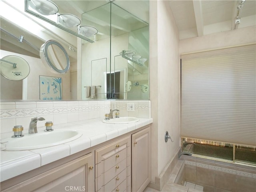
[[[7,138],[1,140],[6,145],[6,151],[32,150],[51,147],[70,142],[82,136],[76,130],[54,130],[51,132],[38,131],[35,134],[24,134],[21,138]]]

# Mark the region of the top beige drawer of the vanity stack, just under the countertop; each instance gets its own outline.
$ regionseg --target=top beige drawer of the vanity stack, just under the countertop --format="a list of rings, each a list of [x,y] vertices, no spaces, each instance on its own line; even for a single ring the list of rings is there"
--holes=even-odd
[[[100,149],[95,150],[95,163],[98,164],[101,161],[110,158],[117,152],[120,152],[126,147],[130,146],[130,136],[125,137],[123,139],[117,140],[116,142],[112,142]]]

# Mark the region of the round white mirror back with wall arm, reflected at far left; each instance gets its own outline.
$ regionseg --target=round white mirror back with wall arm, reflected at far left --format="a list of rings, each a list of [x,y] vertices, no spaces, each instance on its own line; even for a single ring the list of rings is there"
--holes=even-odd
[[[1,59],[1,75],[6,79],[19,81],[26,78],[30,72],[28,62],[19,56],[8,55]]]

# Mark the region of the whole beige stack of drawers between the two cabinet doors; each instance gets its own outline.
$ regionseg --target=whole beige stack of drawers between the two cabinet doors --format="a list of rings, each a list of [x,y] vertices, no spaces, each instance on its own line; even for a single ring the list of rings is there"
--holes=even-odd
[[[96,192],[130,191],[130,142],[130,136],[126,136],[95,150]]]

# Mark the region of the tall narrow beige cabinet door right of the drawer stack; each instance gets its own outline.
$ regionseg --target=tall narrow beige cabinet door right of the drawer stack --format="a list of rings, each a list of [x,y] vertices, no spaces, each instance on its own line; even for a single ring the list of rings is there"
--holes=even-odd
[[[150,182],[150,127],[132,134],[132,191],[143,191]]]

